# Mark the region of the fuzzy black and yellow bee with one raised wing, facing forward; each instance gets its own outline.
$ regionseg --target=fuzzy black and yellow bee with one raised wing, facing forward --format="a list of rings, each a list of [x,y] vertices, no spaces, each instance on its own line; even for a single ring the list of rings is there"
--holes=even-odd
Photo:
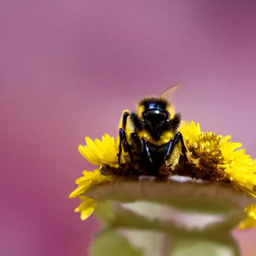
[[[127,153],[130,162],[139,163],[147,174],[157,175],[159,168],[171,156],[179,144],[184,160],[187,147],[178,131],[181,114],[175,113],[168,97],[178,89],[174,85],[156,97],[145,97],[136,104],[136,112],[124,110],[118,125],[118,163],[122,152]]]

